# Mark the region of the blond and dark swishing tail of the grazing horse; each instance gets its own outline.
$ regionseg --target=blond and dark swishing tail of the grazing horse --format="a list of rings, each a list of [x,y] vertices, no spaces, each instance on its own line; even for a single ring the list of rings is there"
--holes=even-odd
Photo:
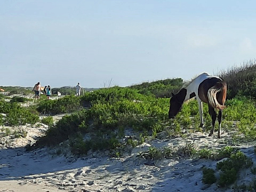
[[[220,109],[220,110],[225,108],[224,102],[226,99],[226,90],[223,90],[223,89],[225,89],[225,85],[223,85],[221,82],[218,82],[216,85],[212,86],[207,91],[208,102],[213,108]],[[225,97],[223,104],[221,104],[217,99],[217,93],[219,92],[222,92],[222,94],[223,92],[225,92],[224,93],[225,95],[223,95],[223,97]]]

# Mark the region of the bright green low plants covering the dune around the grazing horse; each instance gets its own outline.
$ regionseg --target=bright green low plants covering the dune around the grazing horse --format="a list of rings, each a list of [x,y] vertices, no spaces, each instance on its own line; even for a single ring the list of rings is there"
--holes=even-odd
[[[77,111],[83,106],[90,107]],[[233,135],[234,142],[255,139],[255,101],[247,97],[237,97],[228,100],[226,106],[227,108],[223,110],[222,129],[237,130]],[[39,102],[37,109],[41,113],[50,114],[77,111],[62,118],[47,131],[46,137],[38,142],[44,145],[57,145],[68,138],[87,134],[87,139],[79,140],[79,145],[86,145],[86,150],[83,150],[85,153],[90,149],[119,150],[123,148],[125,129],[134,131],[136,138],[134,141],[128,140],[133,147],[138,145],[140,133],[157,138],[158,133],[163,131],[168,137],[186,137],[183,130],[190,130],[190,127],[195,127],[194,131],[202,131],[198,127],[199,114],[195,100],[183,105],[175,119],[169,119],[167,117],[168,98],[156,98],[152,95],[140,94],[135,89],[122,87],[100,89],[93,93],[86,92],[82,97],[66,96],[59,100],[44,100]],[[206,105],[204,105],[204,111],[207,111]],[[204,119],[206,131],[209,131],[211,117],[204,113]],[[242,138],[237,136],[239,133],[243,134]],[[101,145],[103,146],[100,147]],[[75,146],[75,148],[78,147]],[[226,156],[225,153],[222,153],[223,157]],[[203,156],[204,158],[222,158],[213,157],[207,150],[202,150],[201,155],[202,158]]]

